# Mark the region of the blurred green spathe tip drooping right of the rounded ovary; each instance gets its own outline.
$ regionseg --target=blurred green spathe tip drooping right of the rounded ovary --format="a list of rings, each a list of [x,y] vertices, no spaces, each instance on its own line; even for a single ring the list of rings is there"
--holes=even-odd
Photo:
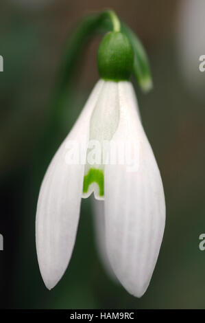
[[[149,60],[147,57],[147,53],[138,39],[136,34],[132,32],[128,25],[125,23],[121,23],[121,31],[128,36],[130,43],[134,49],[134,67],[133,73],[140,85],[141,89],[144,92],[147,92],[152,89],[152,75],[149,68]]]

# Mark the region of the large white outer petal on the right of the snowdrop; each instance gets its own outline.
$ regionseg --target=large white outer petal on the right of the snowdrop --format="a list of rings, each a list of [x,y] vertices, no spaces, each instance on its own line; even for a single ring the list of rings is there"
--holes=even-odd
[[[138,146],[138,170],[108,165],[105,170],[106,243],[117,278],[134,296],[145,293],[165,227],[165,197],[160,172],[136,112],[130,82],[119,82],[120,122],[114,142]]]

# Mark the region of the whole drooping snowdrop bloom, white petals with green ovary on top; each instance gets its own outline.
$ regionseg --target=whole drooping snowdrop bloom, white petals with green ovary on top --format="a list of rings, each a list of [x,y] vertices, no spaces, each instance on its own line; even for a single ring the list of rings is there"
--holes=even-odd
[[[36,214],[36,245],[40,272],[48,289],[58,283],[69,265],[81,199],[92,193],[106,267],[136,297],[145,293],[152,277],[165,227],[165,197],[129,81],[132,64],[128,38],[121,32],[108,33],[99,47],[101,79],[43,179]],[[91,142],[99,143],[100,148],[104,142],[110,146],[98,158],[96,149],[93,153],[89,146]],[[80,147],[84,162],[81,158],[74,158],[75,162],[69,159],[72,143]],[[116,147],[120,147],[121,154],[114,154],[115,159],[110,161]],[[131,159],[123,158],[128,151]]]

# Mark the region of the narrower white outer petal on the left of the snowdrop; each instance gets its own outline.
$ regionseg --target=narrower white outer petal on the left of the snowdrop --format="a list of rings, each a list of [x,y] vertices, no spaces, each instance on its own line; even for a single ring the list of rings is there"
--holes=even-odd
[[[64,140],[46,172],[36,213],[36,248],[41,275],[53,288],[67,269],[77,231],[84,177],[83,164],[67,164],[67,143],[88,141],[89,121],[104,81],[100,80],[71,133]],[[86,155],[86,144],[84,147]]]

